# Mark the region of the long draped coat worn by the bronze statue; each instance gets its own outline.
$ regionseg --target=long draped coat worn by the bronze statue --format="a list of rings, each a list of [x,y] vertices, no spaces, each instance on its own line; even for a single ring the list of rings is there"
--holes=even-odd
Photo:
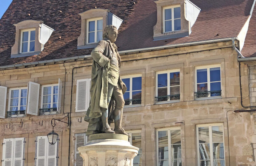
[[[99,41],[98,45],[91,52],[91,56],[93,58],[90,89],[91,101],[90,106],[87,109],[86,116],[84,117],[84,120],[89,123],[95,123],[95,121],[97,121],[95,118],[101,117],[102,110],[108,109],[107,91],[109,58],[112,58],[111,56],[113,56],[114,50],[117,53],[120,71],[120,55],[117,52],[115,44],[112,45],[110,44],[110,41],[105,38],[104,40]],[[121,78],[119,77],[118,79],[118,84],[122,91],[125,92],[126,87],[123,86]]]

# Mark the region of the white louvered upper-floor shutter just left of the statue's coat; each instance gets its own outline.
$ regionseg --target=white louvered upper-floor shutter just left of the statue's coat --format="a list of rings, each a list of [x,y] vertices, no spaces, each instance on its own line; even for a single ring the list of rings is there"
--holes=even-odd
[[[76,112],[86,111],[88,79],[77,80],[76,84]]]

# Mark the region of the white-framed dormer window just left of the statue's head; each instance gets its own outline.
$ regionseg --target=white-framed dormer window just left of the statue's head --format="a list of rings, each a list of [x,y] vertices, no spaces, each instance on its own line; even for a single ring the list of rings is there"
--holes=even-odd
[[[87,43],[96,43],[102,40],[102,18],[87,20]]]

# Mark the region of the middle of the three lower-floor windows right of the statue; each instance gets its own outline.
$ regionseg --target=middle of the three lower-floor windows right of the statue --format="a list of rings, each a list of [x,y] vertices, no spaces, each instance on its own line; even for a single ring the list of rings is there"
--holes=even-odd
[[[181,166],[180,127],[157,130],[157,166]]]

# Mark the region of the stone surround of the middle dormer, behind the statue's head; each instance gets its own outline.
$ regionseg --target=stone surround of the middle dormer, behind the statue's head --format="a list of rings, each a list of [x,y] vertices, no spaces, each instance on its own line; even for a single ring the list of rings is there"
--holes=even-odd
[[[87,44],[87,20],[88,19],[93,19],[93,18],[102,18],[103,23],[102,27],[106,27],[107,25],[107,15],[108,15],[109,10],[108,9],[90,9],[87,10],[83,13],[80,13],[79,15],[81,16],[81,34],[77,39],[77,49],[87,49],[87,48],[94,48],[97,43],[92,43],[92,44]],[[104,28],[103,28],[104,29]]]

